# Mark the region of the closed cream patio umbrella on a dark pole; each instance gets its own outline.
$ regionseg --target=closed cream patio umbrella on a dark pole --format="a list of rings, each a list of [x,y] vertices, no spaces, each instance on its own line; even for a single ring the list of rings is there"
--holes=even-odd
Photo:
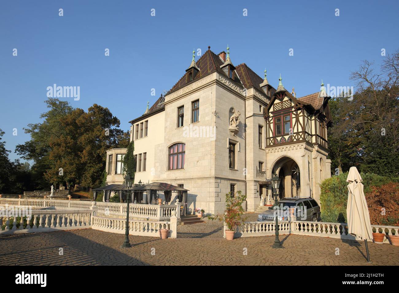
[[[367,252],[367,262],[370,262],[367,240],[373,240],[369,209],[363,192],[363,179],[356,167],[350,167],[348,178],[348,204],[346,205],[346,219],[348,233],[356,235],[357,239],[364,240]]]

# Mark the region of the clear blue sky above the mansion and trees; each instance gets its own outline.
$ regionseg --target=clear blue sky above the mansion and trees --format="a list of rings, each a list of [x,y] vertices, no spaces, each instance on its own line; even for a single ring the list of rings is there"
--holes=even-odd
[[[47,111],[48,86],[79,86],[79,101],[61,100],[108,107],[128,130],[147,100],[152,105],[182,77],[193,47],[219,53],[229,44],[233,64],[247,63],[261,77],[266,67],[275,87],[281,73],[298,96],[318,91],[320,79],[353,85],[349,75],[361,60],[380,64],[381,48],[399,48],[398,8],[398,1],[3,0],[0,128],[10,159],[30,139],[22,128]]]

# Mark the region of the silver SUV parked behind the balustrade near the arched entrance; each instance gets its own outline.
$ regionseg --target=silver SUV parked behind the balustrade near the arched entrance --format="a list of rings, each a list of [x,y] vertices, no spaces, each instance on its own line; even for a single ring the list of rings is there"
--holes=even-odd
[[[259,214],[258,221],[275,221],[275,214],[279,221],[288,220],[291,214],[298,221],[316,222],[320,218],[320,206],[310,197],[286,197]]]

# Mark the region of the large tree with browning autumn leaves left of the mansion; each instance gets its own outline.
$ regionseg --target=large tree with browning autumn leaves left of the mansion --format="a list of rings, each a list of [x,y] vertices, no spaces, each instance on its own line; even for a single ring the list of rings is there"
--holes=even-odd
[[[32,170],[42,177],[38,187],[63,182],[67,187],[100,186],[106,150],[126,147],[128,132],[119,129],[119,119],[108,108],[97,104],[85,112],[56,98],[45,102],[50,110],[41,115],[44,121],[30,124],[25,131],[31,140],[16,147],[24,159],[34,160]]]

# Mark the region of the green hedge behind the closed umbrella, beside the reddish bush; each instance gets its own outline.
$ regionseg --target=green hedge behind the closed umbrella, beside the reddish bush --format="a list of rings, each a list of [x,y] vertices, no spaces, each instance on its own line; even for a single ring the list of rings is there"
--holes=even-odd
[[[398,178],[379,176],[373,173],[360,173],[363,179],[364,193],[372,186],[381,186],[389,182],[399,182]],[[348,172],[332,176],[320,184],[320,209],[323,222],[346,223],[346,203],[348,202]]]

